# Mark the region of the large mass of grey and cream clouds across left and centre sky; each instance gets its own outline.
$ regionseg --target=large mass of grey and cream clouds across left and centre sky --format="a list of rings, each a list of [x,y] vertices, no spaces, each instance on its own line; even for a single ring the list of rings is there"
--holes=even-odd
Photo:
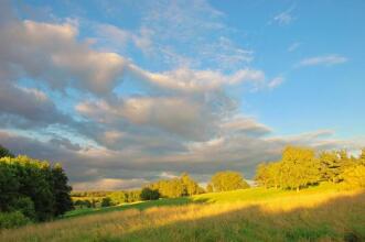
[[[219,169],[251,177],[258,162],[278,158],[286,144],[344,145],[326,132],[278,136],[238,110],[227,88],[275,88],[283,78],[247,66],[254,52],[226,37],[224,13],[203,0],[149,4],[137,32],[97,26],[97,41],[110,50],[82,40],[74,21],[20,20],[0,8],[7,12],[0,14],[0,143],[62,162],[75,189],[128,189],[182,172],[200,182]],[[195,40],[202,43],[180,52]],[[151,59],[179,64],[142,68],[117,54],[130,43]],[[191,68],[200,57],[212,59],[212,68]],[[127,81],[138,90],[126,94]]]

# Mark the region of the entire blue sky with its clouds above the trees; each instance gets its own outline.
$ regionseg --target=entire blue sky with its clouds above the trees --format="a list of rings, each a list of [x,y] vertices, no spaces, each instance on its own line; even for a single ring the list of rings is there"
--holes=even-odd
[[[0,1],[0,144],[75,190],[365,146],[365,2]]]

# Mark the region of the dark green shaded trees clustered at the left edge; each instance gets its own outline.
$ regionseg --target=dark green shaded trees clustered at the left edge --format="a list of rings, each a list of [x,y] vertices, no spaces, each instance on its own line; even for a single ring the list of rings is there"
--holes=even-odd
[[[0,228],[10,217],[46,221],[73,208],[71,186],[60,164],[14,156],[0,145]]]

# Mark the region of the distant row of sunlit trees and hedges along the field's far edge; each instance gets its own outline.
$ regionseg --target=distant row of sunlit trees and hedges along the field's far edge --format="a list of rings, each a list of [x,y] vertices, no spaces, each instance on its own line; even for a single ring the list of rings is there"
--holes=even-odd
[[[204,193],[228,191],[248,187],[249,185],[240,173],[224,170],[212,176],[206,189],[201,187],[187,173],[183,173],[180,177],[160,179],[138,190],[74,191],[72,195],[75,199],[75,207],[95,208],[157,200],[159,198],[189,197]]]

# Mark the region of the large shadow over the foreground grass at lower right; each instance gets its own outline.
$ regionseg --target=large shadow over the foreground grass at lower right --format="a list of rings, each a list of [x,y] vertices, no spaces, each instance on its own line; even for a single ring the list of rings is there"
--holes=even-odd
[[[105,241],[173,239],[174,241],[359,242],[365,241],[365,193],[341,196],[316,207],[298,207],[288,211],[280,209],[267,211],[260,206],[237,208],[198,219],[142,228],[121,237],[105,234],[104,239]]]

